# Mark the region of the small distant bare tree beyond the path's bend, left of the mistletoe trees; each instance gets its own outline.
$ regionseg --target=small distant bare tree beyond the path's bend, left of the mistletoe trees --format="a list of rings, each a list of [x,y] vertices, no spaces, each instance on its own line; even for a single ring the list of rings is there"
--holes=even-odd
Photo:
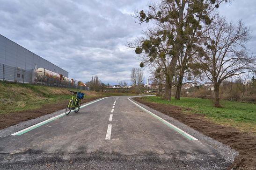
[[[135,87],[135,93],[144,81],[143,71],[140,68],[132,68],[131,82]]]

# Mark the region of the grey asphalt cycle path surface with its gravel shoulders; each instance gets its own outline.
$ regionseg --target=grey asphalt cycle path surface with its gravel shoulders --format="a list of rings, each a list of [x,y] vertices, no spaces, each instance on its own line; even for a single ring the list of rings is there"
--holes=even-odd
[[[232,163],[234,150],[155,114],[198,141],[143,112],[128,96],[108,97],[20,136],[0,137],[0,169],[226,170]],[[106,140],[109,125],[111,135]],[[21,127],[24,123],[0,131],[0,136]]]

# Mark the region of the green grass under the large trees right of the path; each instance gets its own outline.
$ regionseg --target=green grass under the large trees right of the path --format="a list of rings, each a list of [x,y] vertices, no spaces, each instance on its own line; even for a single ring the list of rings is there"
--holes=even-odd
[[[172,98],[171,101],[165,101],[155,96],[147,96],[143,99],[154,103],[179,106],[183,108],[184,113],[204,114],[213,122],[256,133],[256,104],[221,101],[223,108],[214,108],[213,102],[207,99],[181,97],[181,100]],[[190,110],[185,108],[190,108]]]

